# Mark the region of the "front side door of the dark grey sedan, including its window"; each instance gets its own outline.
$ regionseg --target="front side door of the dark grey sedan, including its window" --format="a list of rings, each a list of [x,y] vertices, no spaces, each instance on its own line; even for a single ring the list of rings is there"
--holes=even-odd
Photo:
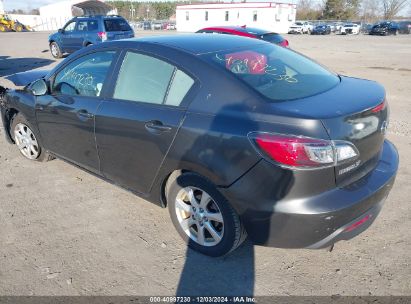
[[[50,79],[50,94],[36,100],[44,147],[96,173],[100,167],[94,116],[115,57],[115,50],[106,50],[72,60]]]

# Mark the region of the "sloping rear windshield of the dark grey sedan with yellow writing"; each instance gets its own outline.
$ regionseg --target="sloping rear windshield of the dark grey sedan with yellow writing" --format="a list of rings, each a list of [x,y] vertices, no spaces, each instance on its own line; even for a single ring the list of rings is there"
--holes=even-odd
[[[273,102],[316,95],[340,82],[336,74],[319,64],[274,44],[208,53],[202,57]]]

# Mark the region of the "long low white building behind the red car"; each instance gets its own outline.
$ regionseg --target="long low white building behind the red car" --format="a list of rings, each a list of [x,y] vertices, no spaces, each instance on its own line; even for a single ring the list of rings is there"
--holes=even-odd
[[[176,26],[180,32],[196,32],[210,26],[257,27],[287,33],[295,22],[297,6],[291,2],[242,2],[179,5]]]

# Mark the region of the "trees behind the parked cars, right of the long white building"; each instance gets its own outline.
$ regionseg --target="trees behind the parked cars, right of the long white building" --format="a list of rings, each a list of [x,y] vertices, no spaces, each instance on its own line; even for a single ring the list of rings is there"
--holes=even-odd
[[[394,19],[411,0],[299,0],[299,20],[366,20]],[[411,7],[410,7],[411,13]]]

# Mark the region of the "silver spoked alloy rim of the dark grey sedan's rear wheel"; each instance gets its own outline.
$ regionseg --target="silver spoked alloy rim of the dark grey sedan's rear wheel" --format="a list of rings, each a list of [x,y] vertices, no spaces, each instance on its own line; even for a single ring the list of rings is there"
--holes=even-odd
[[[183,231],[202,246],[215,246],[224,235],[224,219],[217,203],[204,190],[181,189],[176,197],[175,212]]]

